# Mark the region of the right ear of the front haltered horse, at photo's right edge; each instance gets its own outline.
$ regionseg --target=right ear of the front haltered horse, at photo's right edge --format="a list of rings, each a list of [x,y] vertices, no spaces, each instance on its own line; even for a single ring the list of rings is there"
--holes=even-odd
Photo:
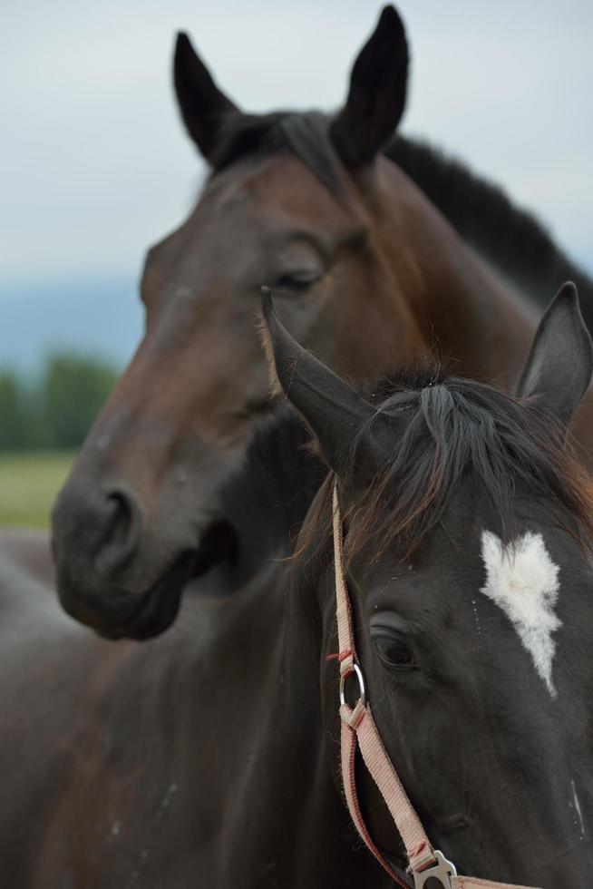
[[[591,382],[593,346],[578,307],[577,288],[564,284],[541,318],[517,395],[547,408],[568,427]]]

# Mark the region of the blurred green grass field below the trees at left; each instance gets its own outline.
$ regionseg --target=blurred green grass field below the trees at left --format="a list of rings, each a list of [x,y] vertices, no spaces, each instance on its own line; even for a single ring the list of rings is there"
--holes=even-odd
[[[47,528],[73,459],[63,452],[0,454],[0,526]]]

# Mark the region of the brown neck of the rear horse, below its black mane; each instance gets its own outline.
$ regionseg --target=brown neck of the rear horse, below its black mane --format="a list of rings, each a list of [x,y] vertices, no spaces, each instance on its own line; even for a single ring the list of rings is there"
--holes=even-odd
[[[458,373],[509,383],[537,312],[469,248],[408,177],[377,161],[376,239],[424,343]]]

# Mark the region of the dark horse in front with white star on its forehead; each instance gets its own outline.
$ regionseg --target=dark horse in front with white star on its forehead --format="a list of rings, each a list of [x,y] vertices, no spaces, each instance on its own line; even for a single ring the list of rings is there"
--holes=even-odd
[[[465,873],[587,886],[590,503],[562,435],[591,347],[574,294],[544,319],[520,401],[403,379],[372,407],[269,318],[278,376],[338,478],[375,719],[433,843]],[[386,889],[338,777],[327,484],[304,531],[319,546],[274,558],[319,484],[305,440],[292,417],[270,423],[228,487],[259,568],[240,596],[189,599],[144,645],[92,638],[45,596],[9,603],[7,885]],[[359,784],[374,841],[404,865]]]

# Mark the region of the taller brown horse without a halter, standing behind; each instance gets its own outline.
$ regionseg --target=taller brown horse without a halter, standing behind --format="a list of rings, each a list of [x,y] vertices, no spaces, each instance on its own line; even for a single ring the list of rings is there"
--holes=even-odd
[[[340,112],[258,117],[238,111],[180,35],[180,111],[212,172],[189,219],[149,252],[145,336],[53,512],[63,606],[103,635],[166,629],[181,591],[191,579],[203,590],[210,569],[219,591],[236,585],[238,538],[219,492],[273,409],[253,321],[263,282],[299,341],[353,381],[383,375],[394,354],[411,366],[436,346],[458,373],[508,383],[524,357],[537,316],[521,294],[531,256],[558,253],[504,204],[501,222],[488,187],[481,201],[480,183],[468,176],[460,187],[457,168],[400,142],[404,165],[466,243],[381,153],[403,112],[407,63],[403,25],[387,7]],[[462,201],[447,200],[447,182],[462,195],[467,187],[473,222]],[[503,250],[489,262],[468,246],[488,242],[489,210],[498,239],[520,233],[520,286],[510,280],[516,260],[506,268]]]

